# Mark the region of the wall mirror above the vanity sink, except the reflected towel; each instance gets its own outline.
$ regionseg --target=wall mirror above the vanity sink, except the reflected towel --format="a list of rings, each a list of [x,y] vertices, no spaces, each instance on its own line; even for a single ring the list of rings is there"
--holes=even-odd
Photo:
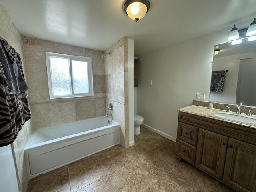
[[[209,101],[256,106],[256,41],[243,39],[242,43],[216,45],[212,71],[228,70],[223,92],[210,92]]]

